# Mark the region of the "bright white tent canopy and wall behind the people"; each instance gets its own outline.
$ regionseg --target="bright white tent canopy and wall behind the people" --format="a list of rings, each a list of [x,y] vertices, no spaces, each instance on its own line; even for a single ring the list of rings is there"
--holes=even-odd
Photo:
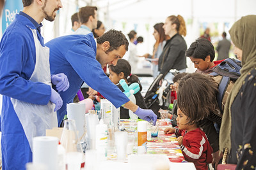
[[[164,22],[170,15],[182,15],[186,21],[186,42],[195,41],[205,27],[214,34],[230,29],[232,24],[244,15],[256,15],[255,0],[62,0],[60,18],[54,22],[44,21],[45,42],[65,35],[71,28],[71,15],[82,6],[98,7],[99,20],[107,29],[117,29],[127,34],[136,30],[143,36],[145,51],[152,52],[155,42],[153,25]],[[46,33],[47,32],[47,33]],[[214,43],[214,39],[212,39]]]

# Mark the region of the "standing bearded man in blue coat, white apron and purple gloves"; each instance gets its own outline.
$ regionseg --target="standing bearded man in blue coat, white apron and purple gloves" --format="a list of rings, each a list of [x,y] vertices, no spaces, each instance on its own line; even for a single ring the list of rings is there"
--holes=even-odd
[[[40,32],[44,18],[53,21],[62,8],[61,0],[22,3],[23,11],[15,16],[0,43],[3,169],[26,169],[26,163],[32,161],[33,137],[45,136],[45,129],[58,125],[56,110],[62,99],[56,90],[69,87],[65,74],[51,76],[49,48]]]

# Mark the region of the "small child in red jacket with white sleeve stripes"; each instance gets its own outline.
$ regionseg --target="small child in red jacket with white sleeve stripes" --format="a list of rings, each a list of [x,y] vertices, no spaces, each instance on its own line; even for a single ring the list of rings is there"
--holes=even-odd
[[[218,85],[209,75],[191,73],[180,80],[177,96],[177,126],[164,129],[175,132],[185,160],[193,162],[196,169],[208,169],[212,162],[212,148],[200,128],[200,121],[218,107]]]

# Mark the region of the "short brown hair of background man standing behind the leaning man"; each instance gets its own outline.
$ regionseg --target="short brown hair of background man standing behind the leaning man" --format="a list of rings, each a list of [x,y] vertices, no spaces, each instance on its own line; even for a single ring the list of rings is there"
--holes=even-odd
[[[91,15],[94,18],[95,10],[97,11],[96,6],[84,6],[84,7],[80,8],[80,10],[78,12],[78,18],[79,18],[80,22],[82,24],[88,22],[89,17]]]

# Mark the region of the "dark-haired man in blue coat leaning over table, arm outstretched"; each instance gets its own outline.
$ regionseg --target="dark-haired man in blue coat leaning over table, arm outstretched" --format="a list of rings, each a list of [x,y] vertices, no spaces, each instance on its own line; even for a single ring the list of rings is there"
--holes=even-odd
[[[143,110],[132,103],[128,97],[114,85],[104,73],[102,67],[116,65],[128,50],[129,42],[121,31],[109,30],[99,38],[93,34],[70,35],[52,39],[45,45],[51,49],[50,66],[51,73],[64,73],[70,80],[70,88],[66,92],[60,92],[63,106],[58,110],[58,124],[67,114],[67,103],[72,103],[77,91],[83,84],[97,90],[111,103],[119,108],[124,107],[133,111],[143,120],[154,121],[157,116],[152,110]]]

